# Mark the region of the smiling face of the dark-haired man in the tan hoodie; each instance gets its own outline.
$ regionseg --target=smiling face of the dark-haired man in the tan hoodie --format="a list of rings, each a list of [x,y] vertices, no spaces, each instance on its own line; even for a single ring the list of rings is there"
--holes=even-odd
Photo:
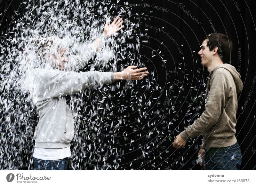
[[[207,40],[201,45],[201,50],[197,53],[201,57],[201,65],[207,67],[212,64],[212,51],[207,46]]]

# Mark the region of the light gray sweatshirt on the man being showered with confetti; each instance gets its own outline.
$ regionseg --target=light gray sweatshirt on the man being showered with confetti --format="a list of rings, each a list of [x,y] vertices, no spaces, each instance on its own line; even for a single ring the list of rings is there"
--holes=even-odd
[[[65,148],[74,137],[73,115],[66,104],[66,95],[86,88],[113,83],[113,72],[65,72],[34,69],[35,87],[31,92],[39,121],[34,140],[38,148]]]

